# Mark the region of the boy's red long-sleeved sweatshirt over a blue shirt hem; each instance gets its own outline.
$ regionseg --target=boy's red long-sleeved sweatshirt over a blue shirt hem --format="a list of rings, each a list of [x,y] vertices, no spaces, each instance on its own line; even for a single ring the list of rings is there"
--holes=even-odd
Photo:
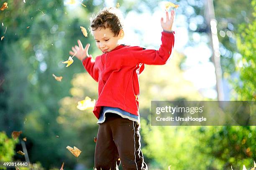
[[[85,58],[82,63],[87,72],[99,82],[99,97],[93,113],[99,119],[102,106],[118,107],[139,116],[138,96],[140,94],[138,75],[144,64],[164,65],[174,46],[174,34],[162,32],[159,50],[119,45],[114,50]]]

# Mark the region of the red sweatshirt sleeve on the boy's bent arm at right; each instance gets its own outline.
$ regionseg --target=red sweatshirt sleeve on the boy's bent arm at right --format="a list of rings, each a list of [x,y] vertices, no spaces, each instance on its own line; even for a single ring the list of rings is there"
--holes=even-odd
[[[174,46],[174,32],[162,32],[162,44],[159,50],[147,50],[136,47],[133,50],[133,57],[136,62],[148,65],[164,65],[169,59]]]

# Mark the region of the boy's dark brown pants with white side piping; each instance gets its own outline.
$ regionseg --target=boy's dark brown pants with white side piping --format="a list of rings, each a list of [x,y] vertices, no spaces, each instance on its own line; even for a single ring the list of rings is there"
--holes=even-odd
[[[140,125],[115,113],[106,113],[98,130],[95,148],[97,170],[148,170],[141,152]]]

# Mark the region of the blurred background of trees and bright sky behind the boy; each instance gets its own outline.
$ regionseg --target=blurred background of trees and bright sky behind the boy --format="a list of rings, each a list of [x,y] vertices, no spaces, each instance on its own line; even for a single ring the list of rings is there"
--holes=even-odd
[[[69,67],[61,62],[78,39],[91,44],[94,58],[101,54],[89,32],[89,18],[117,3],[125,23],[123,43],[158,49],[168,1],[0,0],[0,5],[4,2],[0,161],[29,160],[35,170],[57,170],[63,162],[66,170],[92,169],[97,119],[92,109],[78,110],[77,102],[85,96],[97,100],[97,83],[77,58]],[[171,58],[166,65],[146,65],[139,77],[145,161],[151,170],[169,165],[172,170],[250,168],[256,160],[255,126],[151,126],[150,107],[151,100],[255,101],[256,0],[172,2],[179,7]],[[20,130],[14,140],[12,132]],[[81,155],[74,157],[67,145],[82,150]],[[26,156],[19,150],[26,150]]]

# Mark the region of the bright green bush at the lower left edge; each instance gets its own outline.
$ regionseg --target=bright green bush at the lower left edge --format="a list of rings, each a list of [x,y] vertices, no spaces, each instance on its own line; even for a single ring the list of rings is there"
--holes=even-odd
[[[18,140],[17,140],[18,141]],[[8,138],[4,131],[0,132],[0,161],[12,161],[17,141]]]

